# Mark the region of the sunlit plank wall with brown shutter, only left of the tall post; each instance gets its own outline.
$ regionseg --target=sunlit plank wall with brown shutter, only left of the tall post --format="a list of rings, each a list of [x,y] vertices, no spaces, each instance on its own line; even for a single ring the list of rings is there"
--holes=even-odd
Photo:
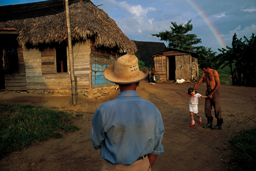
[[[55,50],[41,52],[38,49],[26,49],[24,51],[28,90],[71,89],[69,73],[56,73],[55,64],[53,65],[53,57],[55,62]],[[48,65],[44,65],[44,62],[48,62]]]

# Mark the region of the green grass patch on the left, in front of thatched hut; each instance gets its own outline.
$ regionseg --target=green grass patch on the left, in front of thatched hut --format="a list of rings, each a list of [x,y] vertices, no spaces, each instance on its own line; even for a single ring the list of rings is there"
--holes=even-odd
[[[42,106],[0,103],[0,159],[23,147],[62,138],[61,132],[79,130],[70,124],[72,116]]]

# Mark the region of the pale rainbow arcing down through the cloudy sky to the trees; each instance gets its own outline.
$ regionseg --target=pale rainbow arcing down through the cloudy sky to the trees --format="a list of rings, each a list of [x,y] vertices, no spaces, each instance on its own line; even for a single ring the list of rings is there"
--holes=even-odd
[[[203,12],[203,10],[192,0],[186,0],[186,2],[192,6],[196,12],[200,15],[200,17],[204,20],[204,22],[206,23],[207,27],[210,29],[210,31],[214,34],[216,40],[218,41],[219,45],[222,48],[225,48],[226,45],[224,43],[224,40],[222,39],[222,37],[220,36],[220,33],[218,32],[218,30],[216,29],[216,27],[210,22],[209,18],[207,17],[207,15]],[[221,49],[221,48],[220,48]]]

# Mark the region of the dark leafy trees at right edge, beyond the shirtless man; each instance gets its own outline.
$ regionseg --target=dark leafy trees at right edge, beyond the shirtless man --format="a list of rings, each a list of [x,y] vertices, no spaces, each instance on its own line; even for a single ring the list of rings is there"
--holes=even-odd
[[[218,49],[222,53],[217,58],[220,65],[224,64],[223,68],[230,66],[233,85],[256,87],[256,36],[252,33],[250,39],[246,36],[244,39],[238,39],[234,33],[232,48],[227,46],[227,50]]]

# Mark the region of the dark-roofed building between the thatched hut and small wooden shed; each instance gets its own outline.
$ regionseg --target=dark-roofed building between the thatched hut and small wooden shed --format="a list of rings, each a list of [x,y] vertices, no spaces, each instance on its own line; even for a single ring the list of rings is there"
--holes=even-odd
[[[145,63],[145,67],[152,68],[154,67],[154,59],[152,54],[160,52],[166,49],[166,46],[163,42],[153,42],[153,41],[135,41],[137,46],[137,52],[135,55],[138,59],[142,60]]]

